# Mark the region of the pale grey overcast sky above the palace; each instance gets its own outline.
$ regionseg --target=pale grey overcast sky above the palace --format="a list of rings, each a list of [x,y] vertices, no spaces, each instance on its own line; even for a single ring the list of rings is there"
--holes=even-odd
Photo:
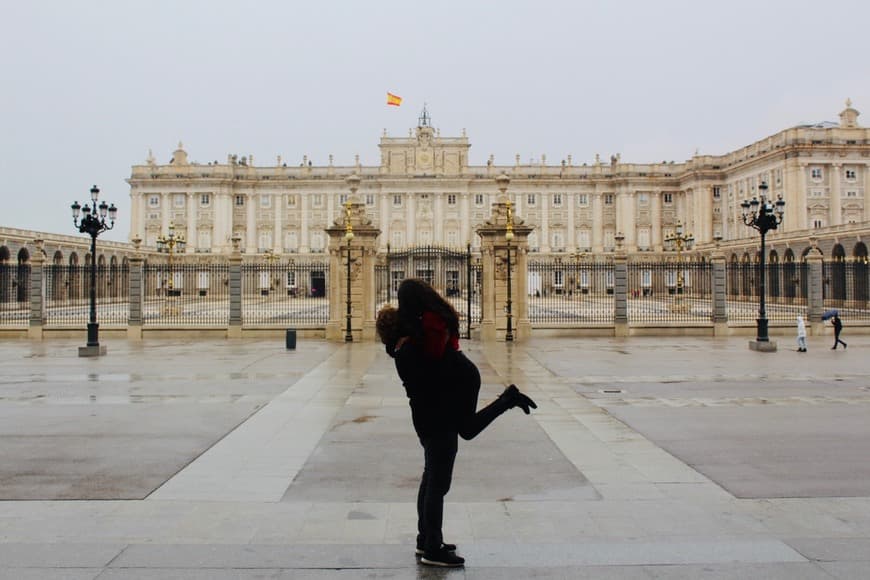
[[[423,102],[471,162],[721,154],[851,97],[866,0],[0,0],[0,225],[76,233],[94,183],[129,233],[130,166],[308,155],[377,164]],[[386,92],[404,98],[387,107]]]

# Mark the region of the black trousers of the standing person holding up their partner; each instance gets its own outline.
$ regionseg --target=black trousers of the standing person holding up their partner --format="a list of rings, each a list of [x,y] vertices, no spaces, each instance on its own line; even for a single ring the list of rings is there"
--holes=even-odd
[[[417,492],[417,544],[429,553],[444,542],[444,496],[450,491],[458,436],[455,431],[434,433],[420,438],[425,456],[423,477]]]

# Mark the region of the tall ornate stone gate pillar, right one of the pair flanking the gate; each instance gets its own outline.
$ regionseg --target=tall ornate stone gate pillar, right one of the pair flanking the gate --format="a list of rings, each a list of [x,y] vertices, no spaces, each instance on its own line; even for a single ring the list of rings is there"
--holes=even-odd
[[[510,178],[501,174],[496,177],[501,192],[499,200],[492,204],[489,219],[478,226],[482,270],[480,325],[481,340],[509,340],[508,320],[512,339],[525,340],[531,335],[528,303],[529,234],[534,228],[528,226],[514,213],[513,204],[507,197]],[[510,260],[510,274],[508,274]],[[510,293],[508,293],[510,278]],[[508,307],[510,297],[510,307]]]

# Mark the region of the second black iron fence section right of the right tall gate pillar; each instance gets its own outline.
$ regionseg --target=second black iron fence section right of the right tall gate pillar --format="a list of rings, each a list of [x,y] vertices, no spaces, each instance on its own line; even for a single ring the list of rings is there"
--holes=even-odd
[[[713,319],[713,266],[632,262],[627,293],[629,324],[708,324]]]

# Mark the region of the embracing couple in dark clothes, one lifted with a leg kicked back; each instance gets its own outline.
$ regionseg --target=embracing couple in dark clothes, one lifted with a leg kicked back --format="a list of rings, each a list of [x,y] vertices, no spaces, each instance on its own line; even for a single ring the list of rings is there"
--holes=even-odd
[[[458,437],[469,440],[514,407],[526,414],[535,402],[510,385],[477,411],[480,372],[459,350],[459,317],[453,307],[422,280],[399,286],[399,309],[378,312],[376,329],[411,406],[414,430],[423,447],[424,468],[417,493],[417,547],[420,562],[458,567],[464,558],[444,542],[444,496],[450,490]]]

